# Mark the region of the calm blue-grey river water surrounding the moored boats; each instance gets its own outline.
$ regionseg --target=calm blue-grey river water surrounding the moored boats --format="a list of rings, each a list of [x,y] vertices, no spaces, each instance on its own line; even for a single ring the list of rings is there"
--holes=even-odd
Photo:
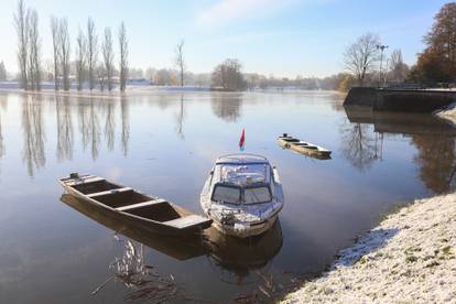
[[[263,296],[262,276],[285,285],[290,272],[322,271],[394,206],[454,188],[455,132],[447,124],[430,116],[344,109],[343,98],[1,94],[0,303],[123,303],[134,291],[128,278],[91,292],[115,273],[144,265],[166,280],[172,274],[187,297]],[[285,193],[280,222],[262,238],[236,242],[211,231],[209,248],[169,245],[61,197],[56,180],[83,172],[200,213],[206,175],[217,156],[237,152],[242,128],[246,151],[278,166]],[[333,150],[333,159],[281,149],[275,139],[282,132]]]

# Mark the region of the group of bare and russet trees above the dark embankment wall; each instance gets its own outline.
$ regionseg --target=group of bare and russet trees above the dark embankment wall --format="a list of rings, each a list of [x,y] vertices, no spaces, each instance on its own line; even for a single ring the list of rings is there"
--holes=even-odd
[[[444,4],[434,17],[434,24],[423,36],[426,48],[419,53],[416,64],[403,63],[401,50],[394,50],[389,58],[388,48],[378,34],[367,33],[344,53],[348,75],[341,88],[357,86],[382,86],[388,83],[415,83],[439,86],[456,83],[456,3]],[[386,58],[386,61],[384,61]]]

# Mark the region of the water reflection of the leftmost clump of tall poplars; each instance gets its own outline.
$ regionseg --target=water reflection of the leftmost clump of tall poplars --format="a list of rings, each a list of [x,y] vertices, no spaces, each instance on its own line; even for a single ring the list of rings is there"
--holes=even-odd
[[[44,166],[46,162],[41,98],[25,96],[22,102],[22,131],[24,140],[22,155],[26,162],[29,175],[33,176],[34,171]]]

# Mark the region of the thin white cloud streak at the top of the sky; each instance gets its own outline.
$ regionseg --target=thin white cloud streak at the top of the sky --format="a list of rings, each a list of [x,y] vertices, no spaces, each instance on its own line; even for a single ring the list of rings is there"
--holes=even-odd
[[[294,0],[219,0],[196,17],[196,24],[221,26],[232,21],[264,18]]]

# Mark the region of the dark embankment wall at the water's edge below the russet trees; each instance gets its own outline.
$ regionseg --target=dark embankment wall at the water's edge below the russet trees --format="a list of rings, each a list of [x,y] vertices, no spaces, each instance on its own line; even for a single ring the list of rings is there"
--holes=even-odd
[[[369,106],[376,111],[433,112],[456,101],[456,91],[355,87],[345,106]]]

